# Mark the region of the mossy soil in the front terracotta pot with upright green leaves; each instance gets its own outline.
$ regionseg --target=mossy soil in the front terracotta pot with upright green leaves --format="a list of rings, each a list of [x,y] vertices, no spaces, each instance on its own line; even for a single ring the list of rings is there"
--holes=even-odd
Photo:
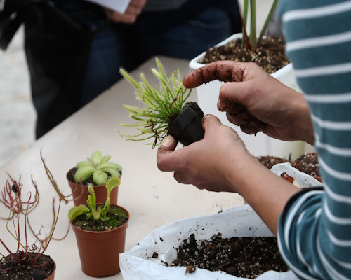
[[[93,218],[87,220],[86,214],[80,215],[72,221],[72,224],[81,230],[89,230],[94,232],[104,232],[113,230],[128,221],[128,214],[124,209],[115,205],[110,205],[110,212],[106,214],[107,221],[95,220]]]

